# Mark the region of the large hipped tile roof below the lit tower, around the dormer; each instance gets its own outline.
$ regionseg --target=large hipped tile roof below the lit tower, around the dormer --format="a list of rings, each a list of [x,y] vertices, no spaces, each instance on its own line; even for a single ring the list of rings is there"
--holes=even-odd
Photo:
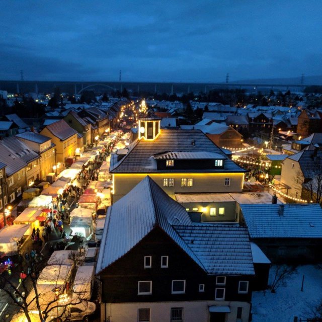
[[[128,153],[120,160],[117,155],[111,155],[111,173],[169,173],[191,172],[192,169],[166,169],[157,170],[153,155],[168,152],[214,152],[222,155],[225,159],[224,169],[195,169],[194,172],[245,172],[237,166],[225,153],[214,144],[200,130],[162,129],[153,141],[135,140],[127,146]]]

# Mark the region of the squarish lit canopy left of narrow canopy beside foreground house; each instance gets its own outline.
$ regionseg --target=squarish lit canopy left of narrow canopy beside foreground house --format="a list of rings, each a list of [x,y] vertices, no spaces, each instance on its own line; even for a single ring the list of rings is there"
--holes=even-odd
[[[37,284],[64,285],[71,272],[71,265],[49,265],[39,274]]]

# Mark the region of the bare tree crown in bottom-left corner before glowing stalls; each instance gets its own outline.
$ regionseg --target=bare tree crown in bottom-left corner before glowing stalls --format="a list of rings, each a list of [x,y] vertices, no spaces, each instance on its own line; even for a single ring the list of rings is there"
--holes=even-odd
[[[79,265],[78,252],[71,252],[68,261],[57,259],[49,266],[41,254],[34,251],[26,254],[19,256],[12,275],[0,274],[2,301],[11,299],[11,304],[23,312],[28,322],[35,318],[41,322],[62,318],[69,304],[82,303],[83,299],[73,296],[71,289]]]

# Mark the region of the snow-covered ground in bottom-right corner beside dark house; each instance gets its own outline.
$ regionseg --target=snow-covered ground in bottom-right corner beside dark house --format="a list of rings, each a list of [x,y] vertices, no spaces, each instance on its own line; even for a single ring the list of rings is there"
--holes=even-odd
[[[271,268],[270,278],[274,273]],[[301,292],[302,277],[304,288]],[[253,292],[253,322],[293,322],[294,316],[299,318],[313,317],[310,307],[322,300],[322,266],[298,266],[294,275],[280,286],[276,293]]]

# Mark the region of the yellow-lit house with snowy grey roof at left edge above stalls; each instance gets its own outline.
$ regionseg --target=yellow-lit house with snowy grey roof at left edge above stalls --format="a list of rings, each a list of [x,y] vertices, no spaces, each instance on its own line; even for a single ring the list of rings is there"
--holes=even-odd
[[[7,165],[7,205],[16,202],[28,186],[39,180],[39,155],[16,136],[0,141],[0,155],[1,162]]]

